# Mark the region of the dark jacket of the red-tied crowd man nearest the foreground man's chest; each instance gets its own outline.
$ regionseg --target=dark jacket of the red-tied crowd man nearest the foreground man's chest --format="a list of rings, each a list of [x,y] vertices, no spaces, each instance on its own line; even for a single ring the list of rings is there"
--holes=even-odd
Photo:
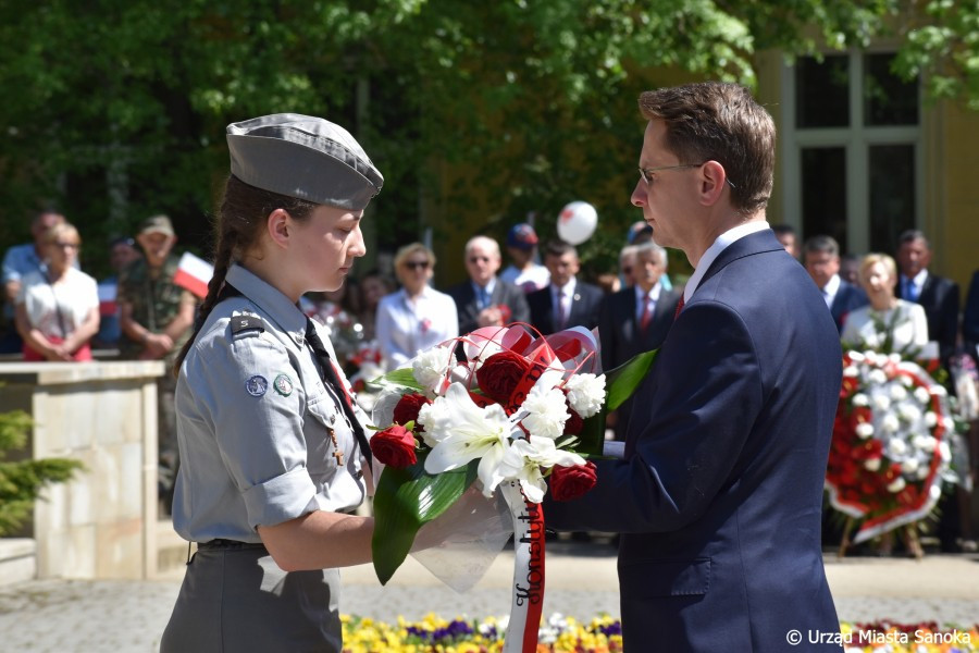
[[[598,312],[602,368],[605,371],[615,369],[636,354],[656,349],[662,345],[662,341],[666,340],[670,325],[673,323],[673,315],[677,312],[679,303],[680,293],[661,291],[649,325],[643,331],[640,329],[636,318],[639,307],[635,301],[635,288],[628,287],[606,296]],[[632,412],[632,397],[627,399],[616,412],[618,414],[616,440],[625,440],[629,416]]]

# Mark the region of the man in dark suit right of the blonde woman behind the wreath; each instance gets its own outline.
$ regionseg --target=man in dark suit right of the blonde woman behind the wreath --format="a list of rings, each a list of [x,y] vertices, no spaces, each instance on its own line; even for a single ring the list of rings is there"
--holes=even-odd
[[[928,317],[928,340],[939,344],[942,365],[947,369],[958,336],[958,284],[928,271],[931,245],[918,230],[897,237],[899,291],[901,298],[920,304]]]

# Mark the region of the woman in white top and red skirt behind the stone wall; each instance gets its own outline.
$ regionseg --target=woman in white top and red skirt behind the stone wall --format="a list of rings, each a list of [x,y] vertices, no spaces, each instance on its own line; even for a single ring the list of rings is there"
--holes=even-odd
[[[99,294],[96,280],[74,267],[82,247],[78,230],[55,224],[41,243],[45,269],[24,276],[15,307],[24,360],[91,360]]]

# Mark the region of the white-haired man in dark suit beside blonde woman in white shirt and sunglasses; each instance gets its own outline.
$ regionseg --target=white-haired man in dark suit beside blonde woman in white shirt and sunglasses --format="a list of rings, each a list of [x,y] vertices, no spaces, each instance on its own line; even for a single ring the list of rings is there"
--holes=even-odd
[[[500,262],[499,244],[493,238],[474,236],[466,243],[469,281],[448,289],[448,295],[456,300],[459,335],[480,326],[530,320],[523,291],[496,275]]]

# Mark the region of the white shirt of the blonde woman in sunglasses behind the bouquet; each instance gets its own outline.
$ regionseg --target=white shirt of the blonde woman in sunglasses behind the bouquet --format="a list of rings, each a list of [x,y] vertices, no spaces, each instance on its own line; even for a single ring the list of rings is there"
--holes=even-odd
[[[394,370],[423,349],[459,335],[456,303],[425,286],[413,299],[400,289],[377,304],[374,332],[384,355],[384,369]]]

